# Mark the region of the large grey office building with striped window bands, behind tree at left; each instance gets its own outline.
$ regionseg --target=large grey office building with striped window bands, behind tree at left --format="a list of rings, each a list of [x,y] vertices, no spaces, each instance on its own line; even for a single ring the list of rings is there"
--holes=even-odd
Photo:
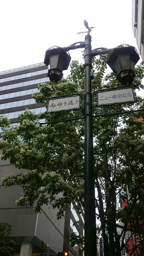
[[[30,109],[35,114],[46,111],[44,104],[36,104],[32,94],[38,91],[38,84],[48,82],[47,66],[38,63],[13,70],[0,72],[0,115],[6,116],[17,125],[18,115]],[[72,232],[84,234],[84,213],[78,214],[73,204],[68,206],[65,217],[57,220],[57,209],[42,206],[41,214],[32,207],[18,207],[15,201],[22,195],[22,188],[2,186],[2,177],[9,174],[26,172],[10,164],[9,160],[0,161],[0,222],[12,225],[11,236],[16,241],[16,256],[38,256],[42,241],[48,244],[52,253],[68,250],[70,256],[82,255],[80,247],[72,248],[67,237]],[[80,225],[74,224],[80,220]],[[79,250],[79,252],[78,252]]]

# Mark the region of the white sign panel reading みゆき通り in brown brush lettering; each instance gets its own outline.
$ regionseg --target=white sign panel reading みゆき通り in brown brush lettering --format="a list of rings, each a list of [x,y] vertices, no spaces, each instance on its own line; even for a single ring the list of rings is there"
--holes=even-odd
[[[62,110],[72,110],[80,108],[80,96],[70,96],[65,98],[50,99],[48,101],[47,113]]]

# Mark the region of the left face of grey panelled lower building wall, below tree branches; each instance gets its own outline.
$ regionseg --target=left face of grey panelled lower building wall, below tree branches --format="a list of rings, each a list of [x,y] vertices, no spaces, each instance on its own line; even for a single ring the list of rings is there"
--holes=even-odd
[[[20,186],[6,188],[2,186],[4,176],[9,174],[24,173],[26,170],[16,169],[9,160],[0,160],[0,222],[6,222],[12,226],[11,236],[17,242],[22,242],[30,236],[34,236],[36,226],[36,213],[32,207],[18,207],[16,200],[23,195]]]

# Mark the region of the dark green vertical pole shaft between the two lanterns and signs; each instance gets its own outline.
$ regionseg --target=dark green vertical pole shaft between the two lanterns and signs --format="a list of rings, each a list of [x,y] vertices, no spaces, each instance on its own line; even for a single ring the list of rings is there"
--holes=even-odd
[[[96,246],[96,206],[94,186],[94,153],[93,153],[93,128],[92,128],[92,82],[90,72],[92,69],[92,56],[90,52],[91,36],[85,37],[85,135],[84,135],[84,254],[85,256],[97,255]]]

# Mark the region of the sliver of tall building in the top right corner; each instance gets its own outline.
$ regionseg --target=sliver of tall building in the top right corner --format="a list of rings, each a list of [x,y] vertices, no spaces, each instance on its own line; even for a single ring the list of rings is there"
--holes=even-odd
[[[144,0],[132,0],[132,30],[144,60]]]

